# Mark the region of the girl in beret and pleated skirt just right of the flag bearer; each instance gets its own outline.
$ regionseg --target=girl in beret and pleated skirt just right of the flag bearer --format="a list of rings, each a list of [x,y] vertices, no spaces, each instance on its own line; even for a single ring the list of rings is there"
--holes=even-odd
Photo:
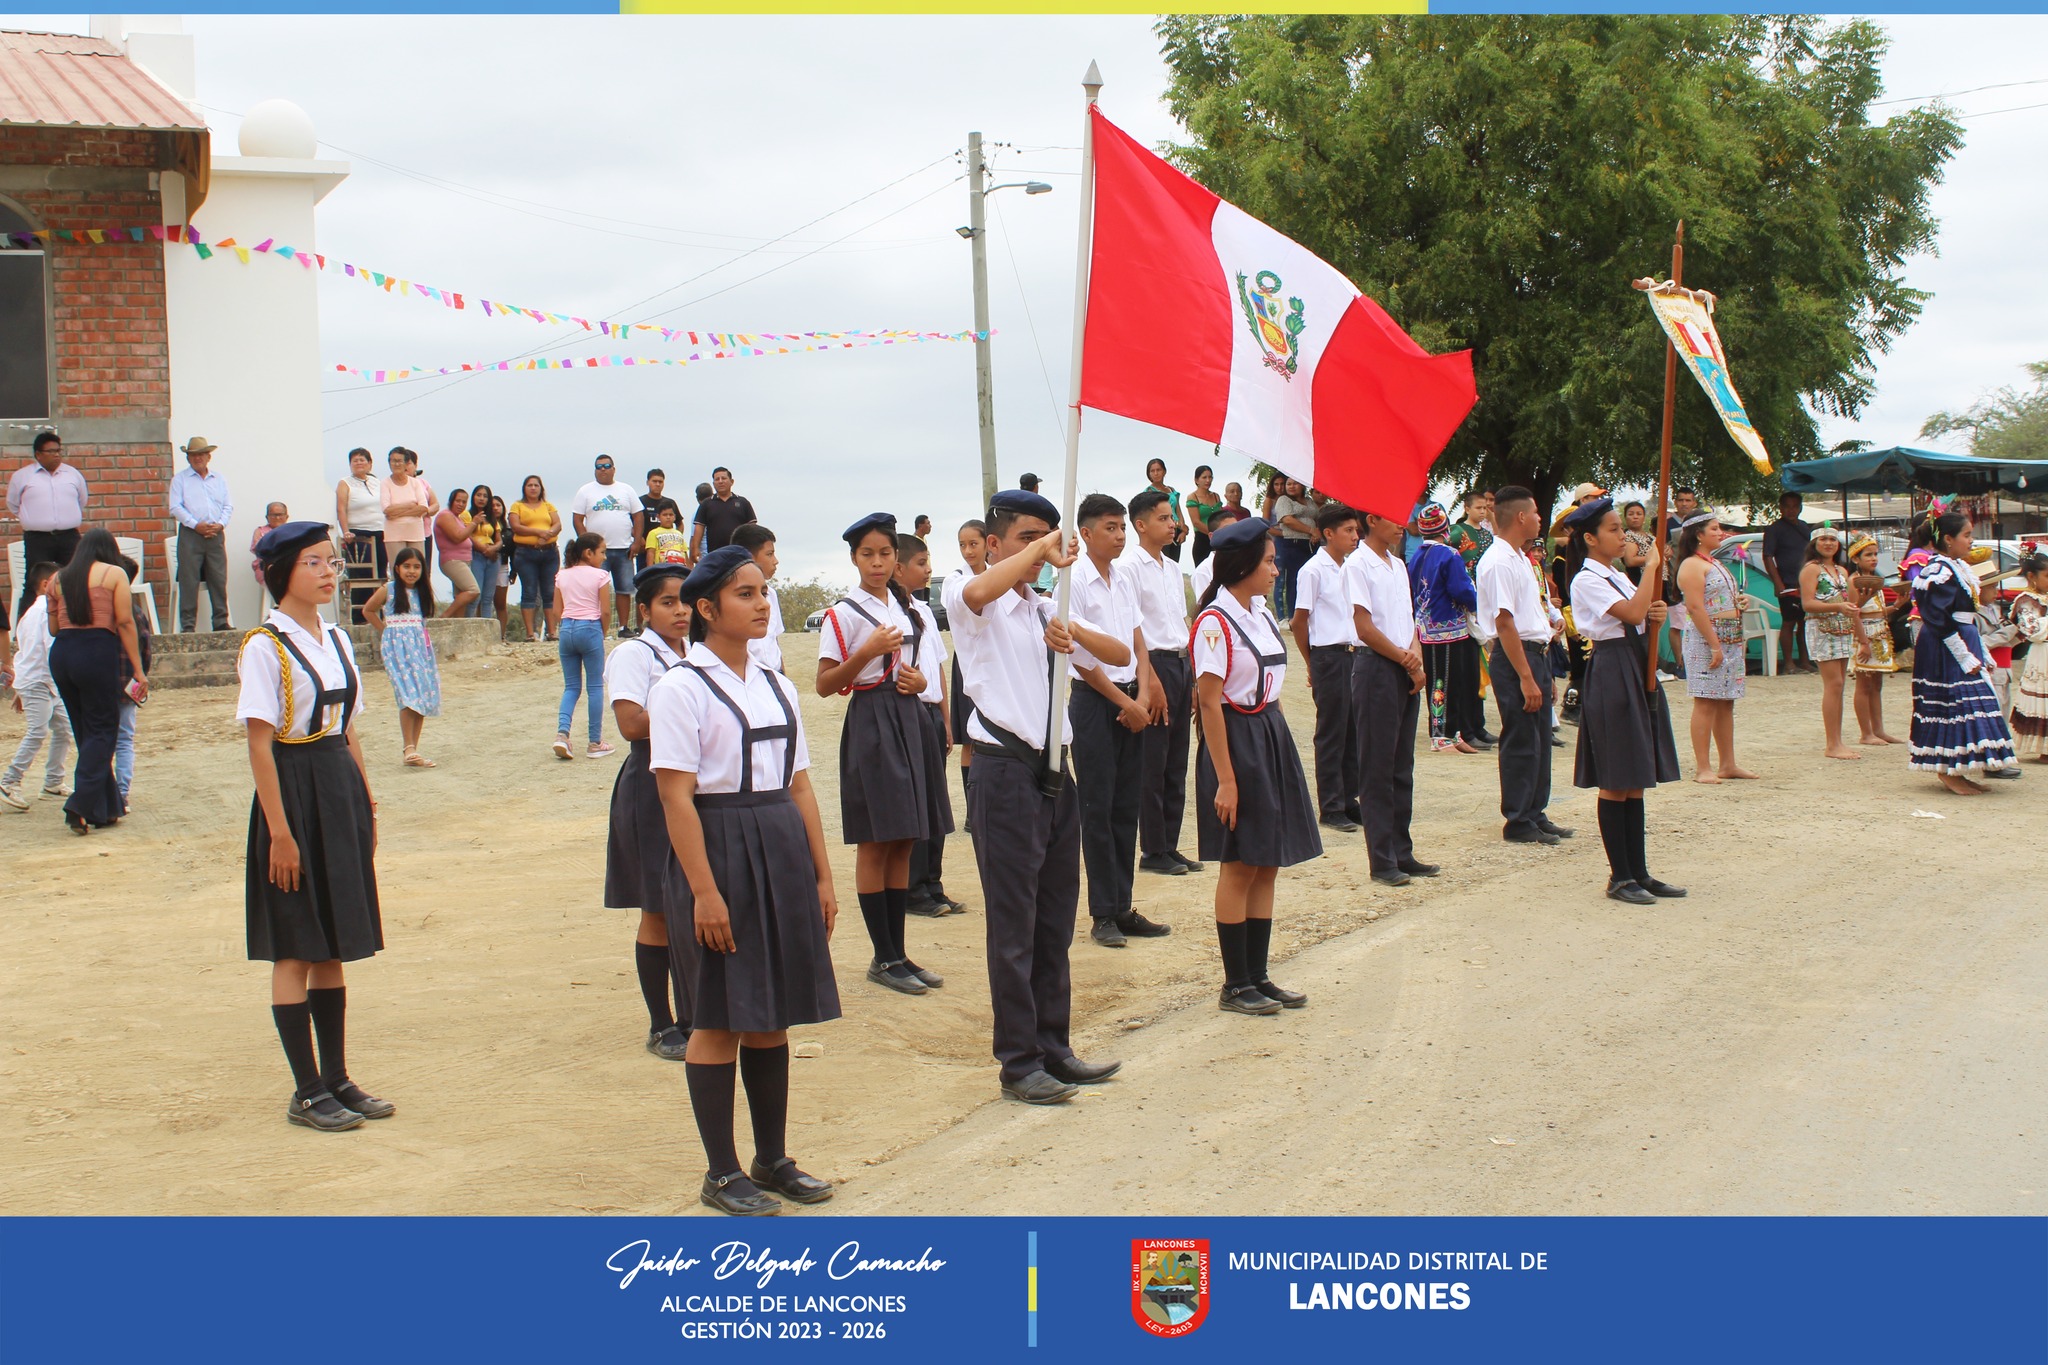
[[[1300,751],[1280,714],[1286,645],[1266,593],[1280,577],[1262,518],[1210,536],[1214,585],[1194,618],[1192,655],[1202,708],[1202,753],[1194,763],[1194,819],[1202,857],[1217,862],[1217,945],[1223,995],[1237,1015],[1300,1009],[1307,995],[1272,982],[1280,868],[1323,855]]]

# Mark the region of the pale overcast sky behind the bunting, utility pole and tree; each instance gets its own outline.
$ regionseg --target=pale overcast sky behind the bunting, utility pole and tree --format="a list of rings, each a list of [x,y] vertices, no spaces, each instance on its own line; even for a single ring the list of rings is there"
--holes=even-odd
[[[84,16],[4,23],[86,29]],[[956,151],[969,129],[1014,143],[997,176],[1057,188],[989,199],[997,456],[1004,485],[1030,469],[1055,497],[1087,61],[1102,63],[1110,119],[1147,143],[1178,135],[1145,16],[184,23],[221,151],[233,151],[240,111],[281,96],[311,115],[324,156],[352,162],[322,205],[319,250],[586,317],[719,332],[967,329]],[[1935,190],[1939,256],[1909,268],[1933,299],[1880,366],[1878,399],[1855,422],[1829,422],[1825,438],[1929,444],[1917,442],[1927,413],[1964,407],[2048,358],[2038,309],[2015,297],[2015,282],[2032,289],[2021,280],[2048,221],[2048,18],[1882,23],[1894,35],[1886,96],[1952,94],[1968,141]],[[2036,84],[1956,94],[2005,82]],[[1991,113],[2028,104],[2038,108]],[[236,231],[205,213],[201,225],[213,237]],[[500,360],[567,340],[561,327],[322,284],[330,366]],[[618,350],[664,354],[657,340],[547,354]],[[1739,356],[1735,366],[1739,379]],[[350,446],[406,444],[438,489],[487,481],[516,495],[522,475],[541,473],[565,503],[600,450],[635,487],[641,471],[664,467],[670,493],[684,497],[713,465],[729,465],[795,577],[844,581],[838,532],[874,510],[905,528],[932,514],[944,569],[956,561],[950,530],[981,495],[965,344],[375,389],[330,377],[326,389],[334,477]],[[1208,446],[1090,413],[1081,491],[1128,497],[1151,454],[1186,489]],[[1219,485],[1241,469],[1219,467]]]

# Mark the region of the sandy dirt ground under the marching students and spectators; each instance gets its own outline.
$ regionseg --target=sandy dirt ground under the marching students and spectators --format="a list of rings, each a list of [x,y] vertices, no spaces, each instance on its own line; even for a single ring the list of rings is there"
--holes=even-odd
[[[809,675],[811,636],[784,647]],[[434,772],[399,765],[369,675],[387,950],[348,970],[350,1070],[399,1115],[348,1134],[283,1117],[231,690],[152,700],[119,827],[0,810],[0,1207],[698,1212],[682,1066],[641,1048],[637,913],[598,905],[618,759],[549,753],[543,649],[444,667]],[[842,702],[805,694],[834,835]],[[1300,669],[1286,708],[1305,745]],[[1681,688],[1673,710],[1686,751]],[[1903,677],[1888,714],[1905,735]],[[1057,1109],[997,1099],[967,837],[946,884],[973,913],[911,919],[946,976],[922,999],[866,982],[834,845],[846,1017],[797,1031],[823,1056],[797,1062],[791,1132],[842,1181],[817,1212],[2040,1214],[2048,767],[1960,800],[1903,747],[1827,761],[1806,675],[1751,679],[1737,726],[1759,782],[1649,798],[1651,864],[1692,888],[1653,911],[1599,894],[1569,749],[1556,849],[1501,843],[1491,755],[1423,751],[1415,845],[1444,876],[1374,886],[1356,835],[1284,872],[1274,976],[1311,1005],[1272,1019],[1214,1009],[1212,874],[1139,874],[1174,935],[1083,929],[1075,1044],[1126,1066]]]

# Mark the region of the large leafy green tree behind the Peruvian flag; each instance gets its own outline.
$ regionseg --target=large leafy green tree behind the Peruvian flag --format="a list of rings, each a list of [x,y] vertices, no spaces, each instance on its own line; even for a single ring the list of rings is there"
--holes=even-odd
[[[1823,454],[1921,311],[1946,108],[1870,121],[1870,23],[1739,16],[1163,18],[1196,180],[1319,252],[1430,350],[1468,346],[1479,405],[1438,473],[1655,479],[1663,338],[1636,276],[1686,282],[1778,463]],[[1679,372],[1673,471],[1761,493]],[[1765,495],[1765,501],[1769,495]]]

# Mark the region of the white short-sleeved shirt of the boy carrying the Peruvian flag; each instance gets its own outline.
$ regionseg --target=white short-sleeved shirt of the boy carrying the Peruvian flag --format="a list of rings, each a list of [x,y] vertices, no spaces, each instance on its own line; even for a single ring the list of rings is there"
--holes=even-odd
[[[952,626],[952,653],[958,659],[961,688],[975,704],[967,737],[977,745],[993,745],[997,743],[995,733],[987,724],[999,724],[1032,749],[1044,749],[1044,722],[1053,708],[1053,667],[1044,624],[1053,620],[1053,602],[1026,587],[1024,591],[1006,591],[975,612],[967,606],[967,581],[965,573],[946,579],[946,624]],[[1071,620],[1090,624],[1079,616],[1071,616]],[[1100,667],[1096,657],[1079,645],[1069,659],[1073,667]],[[1059,718],[1059,743],[1069,743],[1065,716]]]

